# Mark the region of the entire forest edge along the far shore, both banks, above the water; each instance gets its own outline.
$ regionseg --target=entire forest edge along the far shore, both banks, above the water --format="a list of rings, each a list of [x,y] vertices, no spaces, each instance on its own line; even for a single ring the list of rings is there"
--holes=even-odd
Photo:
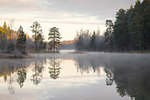
[[[106,20],[106,31],[80,30],[72,41],[60,41],[59,28],[52,27],[48,37],[43,36],[41,25],[35,21],[29,37],[20,26],[14,31],[10,26],[0,26],[0,53],[27,55],[28,52],[57,52],[59,49],[107,52],[150,51],[150,0],[137,0],[130,9],[120,9],[116,20]],[[48,38],[49,42],[44,39]]]

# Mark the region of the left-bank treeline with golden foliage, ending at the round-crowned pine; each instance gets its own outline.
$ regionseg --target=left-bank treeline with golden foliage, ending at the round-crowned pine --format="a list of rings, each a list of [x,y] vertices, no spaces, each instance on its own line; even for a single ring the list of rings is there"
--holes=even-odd
[[[14,31],[4,22],[0,27],[0,52],[27,54],[27,52],[46,51],[46,49],[55,51],[60,45],[61,36],[58,28],[50,28],[48,33],[50,42],[44,42],[42,27],[37,21],[33,22],[30,29],[34,34],[32,38],[25,34],[22,26],[18,31]]]

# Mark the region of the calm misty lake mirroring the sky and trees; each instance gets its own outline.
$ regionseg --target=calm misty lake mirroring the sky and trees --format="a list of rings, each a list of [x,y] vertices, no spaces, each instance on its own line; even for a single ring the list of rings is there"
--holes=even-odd
[[[150,54],[31,55],[0,59],[0,100],[150,100]]]

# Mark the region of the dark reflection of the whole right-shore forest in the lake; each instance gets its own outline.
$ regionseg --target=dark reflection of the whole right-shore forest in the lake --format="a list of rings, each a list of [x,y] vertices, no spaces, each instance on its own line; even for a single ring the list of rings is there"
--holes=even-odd
[[[106,85],[111,86],[115,82],[120,96],[129,96],[131,100],[150,100],[150,59],[147,56],[123,55],[120,58],[118,55],[109,55],[101,59],[79,57],[76,61],[82,73],[104,66]]]

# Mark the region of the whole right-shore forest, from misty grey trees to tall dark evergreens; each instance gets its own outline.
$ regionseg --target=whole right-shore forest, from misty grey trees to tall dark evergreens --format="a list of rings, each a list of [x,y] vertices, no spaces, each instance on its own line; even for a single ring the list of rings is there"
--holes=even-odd
[[[77,50],[108,52],[150,51],[150,0],[136,1],[130,9],[120,9],[116,20],[106,21],[106,32],[81,30],[76,36]]]

